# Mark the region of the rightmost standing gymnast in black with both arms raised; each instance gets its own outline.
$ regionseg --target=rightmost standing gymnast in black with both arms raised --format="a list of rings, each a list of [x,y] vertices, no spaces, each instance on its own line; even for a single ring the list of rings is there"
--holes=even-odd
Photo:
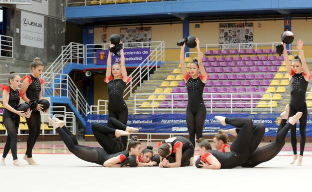
[[[290,164],[294,164],[298,158],[297,165],[302,164],[303,151],[305,146],[305,128],[307,120],[307,108],[305,102],[305,92],[307,84],[310,79],[310,71],[306,64],[303,54],[303,41],[300,39],[297,41],[297,49],[300,55],[294,55],[292,64],[290,65],[288,59],[288,53],[286,50],[286,44],[284,46],[284,60],[286,64],[287,72],[289,73],[289,88],[290,88],[290,103],[289,103],[289,117],[293,116],[296,112],[302,112],[302,117],[299,119],[300,126],[300,156],[297,157],[297,139],[296,139],[296,124],[290,128],[290,139],[293,151],[293,159]]]

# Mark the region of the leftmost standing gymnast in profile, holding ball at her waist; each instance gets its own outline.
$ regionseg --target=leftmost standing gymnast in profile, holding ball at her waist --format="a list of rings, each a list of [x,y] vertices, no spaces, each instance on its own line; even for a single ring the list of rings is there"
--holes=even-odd
[[[24,166],[24,164],[18,161],[16,155],[17,130],[19,127],[19,116],[29,118],[31,112],[17,111],[17,106],[21,103],[20,96],[22,96],[21,92],[17,89],[20,86],[19,75],[14,72],[10,73],[8,76],[8,83],[9,86],[1,85],[4,106],[3,124],[7,130],[7,138],[0,165],[5,165],[5,157],[8,151],[11,150],[13,165]]]

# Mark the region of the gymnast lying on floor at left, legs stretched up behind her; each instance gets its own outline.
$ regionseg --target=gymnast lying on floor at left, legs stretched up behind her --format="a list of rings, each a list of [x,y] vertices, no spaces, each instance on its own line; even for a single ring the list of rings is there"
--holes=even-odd
[[[136,159],[140,154],[141,144],[139,141],[130,141],[127,151],[109,154],[100,147],[88,147],[78,145],[77,140],[72,133],[64,126],[64,122],[57,118],[50,119],[49,122],[58,132],[59,136],[65,143],[68,150],[79,159],[87,162],[96,163],[104,167],[123,167],[126,166],[124,161],[127,161],[131,156]],[[138,163],[138,162],[136,162]],[[137,164],[136,164],[137,166]]]

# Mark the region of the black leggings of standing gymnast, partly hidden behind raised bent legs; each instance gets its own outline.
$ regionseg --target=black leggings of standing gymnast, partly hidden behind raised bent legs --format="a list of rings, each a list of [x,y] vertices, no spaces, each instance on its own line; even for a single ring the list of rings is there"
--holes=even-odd
[[[118,119],[121,123],[126,125],[127,121],[128,121],[128,108],[123,107],[123,108],[116,110],[116,109],[110,109],[108,107],[108,117],[114,117],[114,118]],[[109,127],[109,125],[108,125],[108,127]],[[127,146],[127,142],[128,142],[128,137],[127,136],[121,136],[120,138],[121,138],[121,142],[123,145],[122,150],[125,150],[126,146]]]

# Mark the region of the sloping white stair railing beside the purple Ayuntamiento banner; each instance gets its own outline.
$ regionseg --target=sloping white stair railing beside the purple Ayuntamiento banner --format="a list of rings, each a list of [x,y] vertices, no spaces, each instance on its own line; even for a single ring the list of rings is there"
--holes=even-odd
[[[147,77],[147,80],[149,80],[149,71],[153,67],[157,70],[158,62],[164,62],[164,41],[158,42],[160,42],[160,44],[153,50],[150,50],[149,56],[147,56],[143,62],[138,65],[130,75],[128,75],[131,81],[126,84],[123,98],[126,96],[132,96],[132,90],[136,88],[136,86],[141,86],[143,78]]]

